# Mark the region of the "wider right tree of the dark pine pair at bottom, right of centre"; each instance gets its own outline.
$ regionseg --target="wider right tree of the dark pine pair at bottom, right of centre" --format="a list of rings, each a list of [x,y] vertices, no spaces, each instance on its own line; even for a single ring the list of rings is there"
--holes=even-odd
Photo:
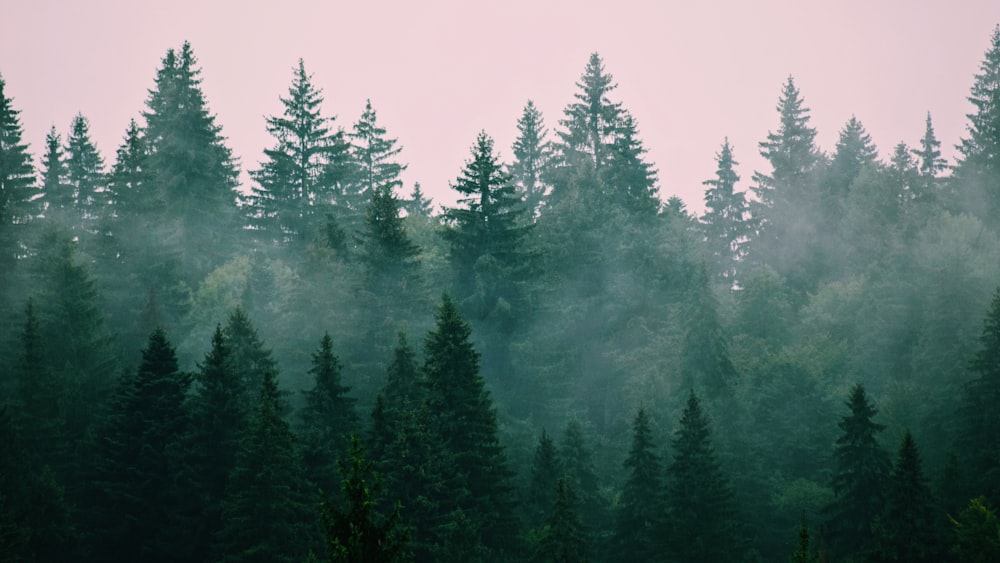
[[[667,551],[679,561],[742,556],[733,492],[715,458],[708,416],[692,392],[667,468]]]

